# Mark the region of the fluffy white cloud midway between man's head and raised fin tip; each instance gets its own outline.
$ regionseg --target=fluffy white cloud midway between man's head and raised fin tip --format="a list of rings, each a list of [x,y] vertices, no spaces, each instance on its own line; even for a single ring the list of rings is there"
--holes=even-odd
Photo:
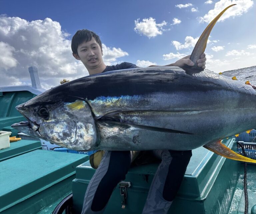
[[[157,35],[161,35],[163,30],[163,26],[167,25],[167,22],[163,21],[160,24],[156,24],[156,20],[150,17],[149,19],[143,19],[139,22],[140,19],[135,20],[135,28],[134,30],[142,35],[147,36],[148,38],[156,37]]]

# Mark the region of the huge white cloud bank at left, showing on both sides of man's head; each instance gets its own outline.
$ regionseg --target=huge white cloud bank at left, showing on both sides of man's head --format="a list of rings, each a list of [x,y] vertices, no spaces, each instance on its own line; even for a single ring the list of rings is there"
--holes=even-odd
[[[49,18],[29,22],[0,16],[0,86],[31,84],[31,65],[38,67],[41,84],[47,87],[58,85],[63,78],[88,75],[82,62],[73,57],[68,36],[60,23]],[[106,63],[128,54],[119,48],[103,47]],[[2,78],[7,73],[8,77]]]

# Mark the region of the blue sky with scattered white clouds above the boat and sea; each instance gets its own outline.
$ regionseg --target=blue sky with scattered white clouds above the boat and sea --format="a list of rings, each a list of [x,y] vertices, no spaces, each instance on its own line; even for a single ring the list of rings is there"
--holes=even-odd
[[[73,58],[78,29],[97,33],[106,64],[165,65],[189,55],[208,23],[230,4],[213,28],[205,53],[215,72],[256,65],[253,0],[7,1],[0,0],[0,86],[30,84],[36,65],[48,89],[63,78],[88,75]]]

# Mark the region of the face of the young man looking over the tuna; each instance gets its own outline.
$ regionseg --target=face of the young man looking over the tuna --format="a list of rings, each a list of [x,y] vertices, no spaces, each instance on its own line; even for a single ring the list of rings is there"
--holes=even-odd
[[[78,55],[74,55],[75,58],[81,60],[87,69],[95,69],[103,63],[102,51],[94,37],[91,41],[81,43],[77,53]]]

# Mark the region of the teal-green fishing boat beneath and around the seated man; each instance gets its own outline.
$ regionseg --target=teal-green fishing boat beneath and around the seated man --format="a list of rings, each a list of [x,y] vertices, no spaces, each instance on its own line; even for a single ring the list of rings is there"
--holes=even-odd
[[[29,73],[32,85],[0,87],[0,145],[4,135],[21,137],[0,150],[0,213],[81,213],[86,188],[95,172],[89,154],[66,149],[55,152],[56,145],[11,128],[13,123],[26,120],[15,107],[45,91],[37,68],[30,67]],[[240,154],[244,147],[246,155],[256,159],[255,139],[253,130],[222,143]],[[169,213],[240,214],[248,206],[248,213],[256,214],[256,165],[247,164],[246,193],[244,163],[203,147],[192,154]],[[141,213],[158,164],[132,166],[115,188],[105,213]]]

